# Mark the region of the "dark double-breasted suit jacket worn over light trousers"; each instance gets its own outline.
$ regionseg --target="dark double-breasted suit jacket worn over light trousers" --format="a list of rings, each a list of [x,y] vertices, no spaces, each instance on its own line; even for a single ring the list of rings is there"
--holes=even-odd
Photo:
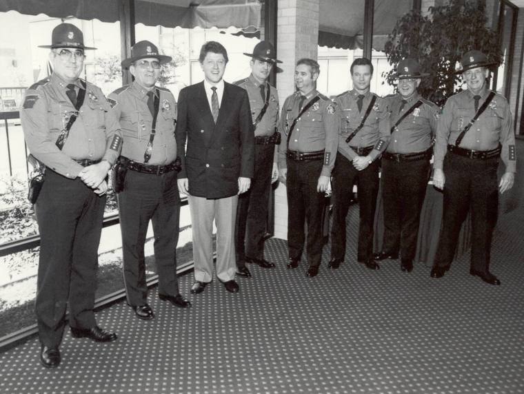
[[[174,133],[182,166],[179,179],[188,178],[192,196],[234,196],[239,176],[253,177],[254,129],[248,93],[241,87],[224,83],[216,125],[203,81],[184,87]]]

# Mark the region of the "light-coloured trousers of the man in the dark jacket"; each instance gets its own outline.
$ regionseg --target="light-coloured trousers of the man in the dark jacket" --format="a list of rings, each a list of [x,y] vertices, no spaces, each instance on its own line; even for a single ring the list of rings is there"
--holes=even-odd
[[[213,220],[216,223],[216,276],[222,282],[234,279],[234,222],[239,196],[209,199],[188,196],[193,232],[194,279],[213,278]]]

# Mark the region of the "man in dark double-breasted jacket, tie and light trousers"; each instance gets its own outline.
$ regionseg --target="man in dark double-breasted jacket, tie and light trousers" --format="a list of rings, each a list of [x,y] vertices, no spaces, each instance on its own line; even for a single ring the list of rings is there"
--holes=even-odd
[[[236,293],[236,207],[238,195],[249,189],[254,172],[250,103],[245,90],[222,79],[228,52],[221,43],[204,43],[199,61],[205,79],[181,90],[175,129],[182,166],[179,191],[188,194],[193,230],[195,282],[191,293],[201,293],[213,277],[213,220],[216,276],[225,289]]]

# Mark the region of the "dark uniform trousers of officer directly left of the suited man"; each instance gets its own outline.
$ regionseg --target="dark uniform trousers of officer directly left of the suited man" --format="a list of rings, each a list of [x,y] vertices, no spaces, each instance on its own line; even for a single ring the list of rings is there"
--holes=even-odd
[[[177,172],[155,175],[128,170],[118,201],[123,278],[128,304],[139,306],[148,299],[144,243],[150,220],[154,231],[154,261],[159,273],[159,293],[177,295],[180,216]]]

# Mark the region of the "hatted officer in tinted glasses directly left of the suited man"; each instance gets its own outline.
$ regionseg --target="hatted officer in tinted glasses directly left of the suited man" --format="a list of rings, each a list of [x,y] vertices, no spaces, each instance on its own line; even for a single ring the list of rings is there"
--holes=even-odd
[[[155,85],[161,64],[169,61],[171,57],[159,54],[156,45],[139,41],[132,46],[131,57],[122,61],[122,67],[133,74],[134,82],[109,95],[124,140],[119,161],[123,171],[127,169],[124,180],[119,180],[123,190],[118,194],[125,293],[128,304],[142,320],[154,318],[145,282],[144,242],[150,221],[159,298],[177,307],[190,307],[190,302],[179,293],[177,279],[177,103],[168,89]]]

